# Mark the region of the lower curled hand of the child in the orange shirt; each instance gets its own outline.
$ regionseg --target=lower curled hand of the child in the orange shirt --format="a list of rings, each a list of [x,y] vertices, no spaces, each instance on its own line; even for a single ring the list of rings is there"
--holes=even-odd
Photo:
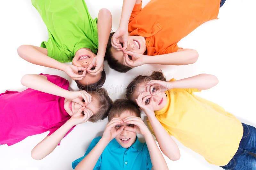
[[[145,64],[144,56],[139,53],[133,53],[131,51],[126,51],[126,52],[124,52],[124,57],[123,57],[122,63],[128,67],[132,67],[132,68],[138,67],[138,66]]]

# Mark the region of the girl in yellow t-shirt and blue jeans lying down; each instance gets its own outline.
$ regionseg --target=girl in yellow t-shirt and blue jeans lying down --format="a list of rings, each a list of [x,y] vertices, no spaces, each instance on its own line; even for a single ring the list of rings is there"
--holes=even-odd
[[[256,153],[256,128],[194,95],[217,83],[210,74],[166,81],[161,72],[153,72],[137,76],[128,85],[126,96],[146,113],[151,131],[170,159],[173,153],[167,141],[172,135],[211,164],[224,169],[255,169],[256,158],[248,152]]]

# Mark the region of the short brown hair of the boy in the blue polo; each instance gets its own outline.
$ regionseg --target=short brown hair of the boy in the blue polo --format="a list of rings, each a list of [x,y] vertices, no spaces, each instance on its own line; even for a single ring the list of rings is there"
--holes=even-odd
[[[140,117],[140,109],[137,105],[127,99],[117,99],[108,112],[108,121],[116,115],[120,116],[121,113],[127,110],[135,113],[137,117]]]

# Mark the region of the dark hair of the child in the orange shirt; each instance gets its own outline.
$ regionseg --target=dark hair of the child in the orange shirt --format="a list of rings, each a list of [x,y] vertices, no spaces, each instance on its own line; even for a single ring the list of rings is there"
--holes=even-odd
[[[126,73],[127,71],[131,70],[131,67],[125,66],[121,63],[118,63],[118,60],[116,60],[111,53],[111,38],[115,32],[111,32],[108,38],[108,44],[107,44],[107,49],[105,53],[104,60],[108,61],[108,65],[110,68],[120,72],[120,73]]]

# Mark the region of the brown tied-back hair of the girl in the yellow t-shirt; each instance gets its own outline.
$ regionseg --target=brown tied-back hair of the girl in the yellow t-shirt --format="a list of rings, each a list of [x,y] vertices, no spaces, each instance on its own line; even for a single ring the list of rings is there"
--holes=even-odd
[[[137,77],[135,77],[135,79],[133,79],[132,82],[130,82],[130,84],[127,86],[126,90],[125,90],[125,95],[126,98],[130,101],[132,101],[132,95],[134,90],[138,87],[138,84],[141,83],[142,81],[144,82],[148,82],[151,80],[161,80],[161,81],[166,81],[166,78],[164,77],[164,74],[162,73],[161,70],[159,71],[153,71],[153,73],[149,76],[147,75],[138,75]],[[134,101],[132,101],[134,103]],[[135,103],[136,104],[136,103]]]

